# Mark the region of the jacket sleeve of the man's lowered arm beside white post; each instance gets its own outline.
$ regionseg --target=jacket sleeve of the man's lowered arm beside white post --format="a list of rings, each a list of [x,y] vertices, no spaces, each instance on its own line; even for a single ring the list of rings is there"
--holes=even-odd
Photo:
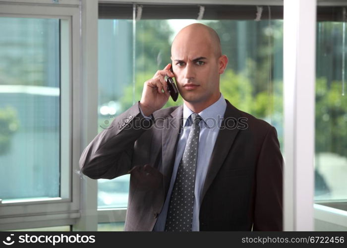
[[[277,132],[272,126],[257,163],[253,231],[283,231],[283,164]]]

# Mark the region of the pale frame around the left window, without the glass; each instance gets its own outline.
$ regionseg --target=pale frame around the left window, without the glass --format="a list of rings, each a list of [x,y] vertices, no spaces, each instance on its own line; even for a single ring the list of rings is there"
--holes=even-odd
[[[35,201],[0,203],[0,230],[73,225],[80,218],[80,181],[78,161],[81,150],[80,133],[80,11],[76,0],[63,1],[0,1],[0,16],[61,19],[61,160],[60,197]],[[35,4],[33,4],[35,3]],[[67,39],[68,37],[68,39]],[[65,80],[65,82],[63,82]],[[67,81],[67,82],[66,82]]]

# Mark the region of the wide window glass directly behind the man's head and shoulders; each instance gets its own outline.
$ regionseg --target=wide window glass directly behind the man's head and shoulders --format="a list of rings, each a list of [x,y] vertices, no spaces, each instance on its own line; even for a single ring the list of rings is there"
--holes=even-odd
[[[132,20],[99,20],[99,132],[141,99],[144,82],[171,62],[175,34],[194,22],[140,20],[133,37]],[[217,31],[223,53],[229,58],[220,82],[222,94],[240,110],[274,125],[283,148],[283,21],[201,22]],[[180,104],[180,96],[177,102],[170,98],[164,108]],[[126,207],[122,193],[128,179],[126,175],[99,180],[99,207]]]

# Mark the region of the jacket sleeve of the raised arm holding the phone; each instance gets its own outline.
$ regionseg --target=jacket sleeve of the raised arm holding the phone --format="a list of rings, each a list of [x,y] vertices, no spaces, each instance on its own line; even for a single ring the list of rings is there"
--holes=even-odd
[[[135,141],[153,124],[139,109],[139,102],[101,131],[84,149],[79,160],[81,172],[91,179],[113,179],[132,168]]]

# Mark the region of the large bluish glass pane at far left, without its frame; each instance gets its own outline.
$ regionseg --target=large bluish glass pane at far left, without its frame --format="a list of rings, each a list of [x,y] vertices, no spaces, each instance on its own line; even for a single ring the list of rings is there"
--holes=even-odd
[[[0,17],[0,198],[58,197],[59,19]]]

